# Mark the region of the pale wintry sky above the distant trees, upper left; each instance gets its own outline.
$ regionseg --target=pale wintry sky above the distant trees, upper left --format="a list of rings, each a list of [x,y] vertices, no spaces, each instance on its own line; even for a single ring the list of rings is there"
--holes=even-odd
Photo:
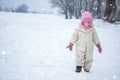
[[[21,4],[27,4],[30,11],[51,11],[50,0],[0,0],[3,8],[12,8]]]

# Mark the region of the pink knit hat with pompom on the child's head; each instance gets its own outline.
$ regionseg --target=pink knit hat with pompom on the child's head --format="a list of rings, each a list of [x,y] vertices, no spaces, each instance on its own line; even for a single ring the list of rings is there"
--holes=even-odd
[[[81,10],[81,14],[82,14],[81,23],[93,21],[92,14],[90,12]]]

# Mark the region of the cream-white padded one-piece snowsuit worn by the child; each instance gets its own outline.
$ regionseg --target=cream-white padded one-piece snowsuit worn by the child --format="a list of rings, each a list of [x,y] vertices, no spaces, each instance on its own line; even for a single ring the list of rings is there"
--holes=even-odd
[[[78,27],[70,43],[76,43],[76,66],[90,69],[93,62],[93,43],[95,45],[100,43],[96,30],[93,27],[88,30]]]

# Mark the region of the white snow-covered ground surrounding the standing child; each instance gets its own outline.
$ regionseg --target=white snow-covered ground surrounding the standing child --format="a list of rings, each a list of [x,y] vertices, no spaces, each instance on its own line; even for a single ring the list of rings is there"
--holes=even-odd
[[[66,49],[79,20],[0,12],[0,80],[120,80],[120,24],[95,20],[103,48],[94,48],[90,73],[75,72]]]

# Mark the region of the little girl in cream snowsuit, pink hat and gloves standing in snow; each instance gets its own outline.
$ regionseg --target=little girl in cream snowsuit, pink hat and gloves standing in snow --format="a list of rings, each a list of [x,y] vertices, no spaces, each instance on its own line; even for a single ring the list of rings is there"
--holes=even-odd
[[[93,17],[88,11],[81,11],[82,18],[78,28],[75,29],[69,41],[69,48],[72,51],[76,43],[76,72],[89,72],[93,62],[93,43],[97,46],[99,53],[102,52],[100,41],[95,28],[93,28]]]

